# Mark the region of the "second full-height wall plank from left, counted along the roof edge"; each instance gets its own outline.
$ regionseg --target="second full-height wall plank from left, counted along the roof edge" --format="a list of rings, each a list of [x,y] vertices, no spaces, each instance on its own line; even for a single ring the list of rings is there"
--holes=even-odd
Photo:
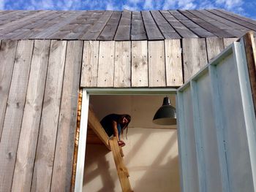
[[[10,191],[34,41],[18,42],[0,143],[0,191]]]

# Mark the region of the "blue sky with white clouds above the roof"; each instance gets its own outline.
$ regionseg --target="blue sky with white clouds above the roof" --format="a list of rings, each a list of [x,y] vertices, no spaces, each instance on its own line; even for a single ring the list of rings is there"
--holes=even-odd
[[[212,9],[222,8],[256,19],[255,0],[0,0],[0,9]]]

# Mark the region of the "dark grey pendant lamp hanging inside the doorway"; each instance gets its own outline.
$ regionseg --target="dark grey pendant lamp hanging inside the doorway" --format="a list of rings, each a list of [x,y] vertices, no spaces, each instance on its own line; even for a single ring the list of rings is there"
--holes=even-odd
[[[170,99],[167,96],[162,102],[162,107],[154,115],[153,123],[163,126],[176,125],[176,109],[170,105]]]

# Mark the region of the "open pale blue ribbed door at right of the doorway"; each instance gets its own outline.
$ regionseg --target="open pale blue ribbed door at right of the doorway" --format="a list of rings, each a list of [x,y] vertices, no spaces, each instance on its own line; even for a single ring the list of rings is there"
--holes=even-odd
[[[256,120],[244,41],[177,91],[182,191],[256,191]]]

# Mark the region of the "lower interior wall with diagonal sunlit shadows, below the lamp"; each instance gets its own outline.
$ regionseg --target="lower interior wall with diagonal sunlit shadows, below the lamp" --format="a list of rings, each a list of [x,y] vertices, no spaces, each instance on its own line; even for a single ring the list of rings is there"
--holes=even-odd
[[[131,128],[124,142],[133,191],[180,191],[176,129]],[[113,155],[105,145],[86,145],[83,191],[121,191]]]

